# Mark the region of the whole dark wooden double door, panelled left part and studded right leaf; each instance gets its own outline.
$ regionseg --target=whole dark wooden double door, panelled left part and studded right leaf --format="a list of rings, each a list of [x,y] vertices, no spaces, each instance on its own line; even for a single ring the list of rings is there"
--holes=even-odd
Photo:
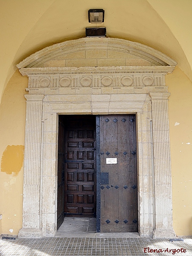
[[[135,115],[59,116],[58,227],[96,217],[97,232],[137,232]]]

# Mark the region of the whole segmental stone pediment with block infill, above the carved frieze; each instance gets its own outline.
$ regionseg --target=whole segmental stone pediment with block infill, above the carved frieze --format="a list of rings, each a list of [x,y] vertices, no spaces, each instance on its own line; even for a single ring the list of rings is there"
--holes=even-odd
[[[71,61],[71,60],[76,61]],[[162,52],[118,38],[80,38],[46,47],[17,67],[175,66]]]

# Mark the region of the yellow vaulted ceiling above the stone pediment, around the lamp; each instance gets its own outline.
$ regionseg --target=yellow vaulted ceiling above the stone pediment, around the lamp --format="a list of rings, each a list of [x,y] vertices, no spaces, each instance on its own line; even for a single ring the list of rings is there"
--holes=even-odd
[[[157,1],[163,1],[163,7],[155,5]],[[0,95],[16,70],[16,64],[24,58],[52,44],[84,38],[85,27],[95,26],[87,21],[87,10],[93,8],[105,9],[105,23],[99,26],[107,28],[108,37],[135,41],[157,49],[177,61],[178,67],[192,79],[190,58],[186,58],[191,50],[183,43],[184,40],[179,41],[182,35],[183,38],[188,36],[189,40],[190,31],[183,32],[183,26],[186,24],[188,27],[192,15],[180,12],[179,19],[186,20],[182,27],[177,23],[174,26],[174,21],[170,20],[174,15],[166,18],[175,10],[172,6],[177,6],[177,2],[179,5],[182,2],[184,9],[190,9],[191,1],[169,0],[172,4],[166,6],[162,1],[84,0],[79,4],[79,0],[0,0]],[[172,25],[169,26],[170,22]]]

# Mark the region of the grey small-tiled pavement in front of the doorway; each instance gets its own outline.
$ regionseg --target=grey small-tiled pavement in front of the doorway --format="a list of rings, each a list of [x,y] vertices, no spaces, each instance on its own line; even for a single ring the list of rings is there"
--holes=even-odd
[[[192,256],[192,239],[52,237],[0,240],[0,256]]]

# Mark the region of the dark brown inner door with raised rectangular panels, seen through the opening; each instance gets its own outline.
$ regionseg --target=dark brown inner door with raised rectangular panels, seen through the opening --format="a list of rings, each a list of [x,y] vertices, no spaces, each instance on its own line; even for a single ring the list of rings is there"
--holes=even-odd
[[[65,214],[95,217],[95,116],[65,116]]]

